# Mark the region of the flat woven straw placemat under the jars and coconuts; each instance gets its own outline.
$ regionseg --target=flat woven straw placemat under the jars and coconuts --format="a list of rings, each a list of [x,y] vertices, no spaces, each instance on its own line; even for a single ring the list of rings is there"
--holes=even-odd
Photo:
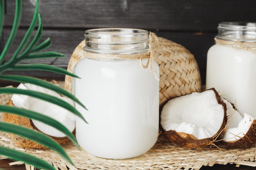
[[[0,104],[4,104],[11,98],[11,95],[0,95]],[[2,113],[0,120],[2,121]],[[102,159],[90,155],[85,150],[79,150],[71,142],[63,148],[70,156],[75,166],[67,163],[56,152],[45,149],[25,149],[15,146],[9,135],[0,132],[0,144],[16,150],[33,154],[36,157],[52,163],[58,170],[199,170],[202,166],[213,166],[214,164],[235,163],[237,166],[246,165],[256,167],[256,146],[244,149],[220,150],[220,149],[185,149],[171,144],[163,135],[159,136],[157,143],[144,155],[133,159],[112,160]],[[8,159],[0,156],[0,159]],[[11,165],[22,164],[13,162]],[[34,167],[26,165],[27,170]]]

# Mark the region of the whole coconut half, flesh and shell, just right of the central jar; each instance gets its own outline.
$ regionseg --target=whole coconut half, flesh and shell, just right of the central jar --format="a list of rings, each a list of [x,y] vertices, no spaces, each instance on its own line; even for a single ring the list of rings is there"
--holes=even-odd
[[[227,122],[226,105],[214,88],[170,99],[160,113],[165,136],[184,148],[212,145]]]

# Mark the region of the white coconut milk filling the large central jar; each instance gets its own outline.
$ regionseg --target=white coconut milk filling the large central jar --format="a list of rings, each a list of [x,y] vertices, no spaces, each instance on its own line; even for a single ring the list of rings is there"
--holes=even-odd
[[[158,64],[155,70],[159,75]],[[89,124],[76,119],[76,138],[92,155],[126,159],[147,152],[157,141],[159,81],[139,60],[91,60],[76,65],[76,105]]]

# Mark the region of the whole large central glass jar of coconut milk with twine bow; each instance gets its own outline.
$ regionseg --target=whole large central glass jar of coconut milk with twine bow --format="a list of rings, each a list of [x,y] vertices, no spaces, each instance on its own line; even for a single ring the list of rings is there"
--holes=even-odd
[[[85,31],[84,57],[75,68],[76,138],[88,153],[107,159],[144,154],[157,141],[159,67],[150,34],[141,29]]]

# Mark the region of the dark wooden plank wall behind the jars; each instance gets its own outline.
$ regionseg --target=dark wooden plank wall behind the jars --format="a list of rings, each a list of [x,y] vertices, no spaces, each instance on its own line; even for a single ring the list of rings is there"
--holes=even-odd
[[[7,0],[4,42],[11,30],[15,1]],[[23,15],[15,46],[25,34],[34,12],[34,0],[23,0]],[[39,60],[67,68],[84,31],[91,28],[126,27],[156,31],[195,55],[205,83],[207,51],[214,44],[219,22],[256,22],[256,0],[40,0],[43,39],[51,38],[50,50],[66,57]],[[35,61],[38,62],[38,61]],[[63,79],[62,75],[39,71],[19,72],[36,77]]]

